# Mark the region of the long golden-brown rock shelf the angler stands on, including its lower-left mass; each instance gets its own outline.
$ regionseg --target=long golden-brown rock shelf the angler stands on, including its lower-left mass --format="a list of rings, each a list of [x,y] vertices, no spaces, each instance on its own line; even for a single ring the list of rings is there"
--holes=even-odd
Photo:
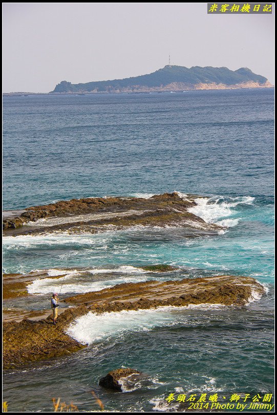
[[[18,367],[30,362],[49,359],[80,350],[84,345],[69,337],[70,323],[88,312],[120,312],[174,305],[224,304],[245,305],[252,298],[264,294],[264,288],[250,277],[215,276],[174,281],[145,281],[123,283],[98,292],[66,298],[75,305],[58,316],[53,325],[52,316],[45,319],[24,319],[4,322],[3,365]]]

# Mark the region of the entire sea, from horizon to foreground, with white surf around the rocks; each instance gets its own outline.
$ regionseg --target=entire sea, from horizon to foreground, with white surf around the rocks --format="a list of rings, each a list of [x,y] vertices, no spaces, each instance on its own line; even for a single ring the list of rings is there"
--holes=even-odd
[[[223,274],[253,277],[266,291],[243,307],[83,316],[68,333],[87,348],[4,371],[9,411],[52,411],[52,398],[98,411],[92,390],[112,412],[174,412],[183,395],[194,403],[201,396],[209,403],[215,396],[236,405],[268,403],[274,374],[273,100],[272,88],[4,97],[4,210],[179,192],[197,195],[191,212],[224,226],[216,235],[193,238],[178,226],[5,236],[5,273],[47,269],[54,277],[62,270],[65,279],[62,287],[55,278],[34,281],[28,299],[4,301],[4,307],[48,309],[60,287],[65,298],[123,282]],[[158,275],[140,268],[153,264],[178,271]],[[125,379],[122,392],[98,385],[121,367],[143,377]]]

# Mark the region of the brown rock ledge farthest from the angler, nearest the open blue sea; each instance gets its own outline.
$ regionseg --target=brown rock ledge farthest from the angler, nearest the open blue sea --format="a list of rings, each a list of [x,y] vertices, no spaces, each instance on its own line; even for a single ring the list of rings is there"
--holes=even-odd
[[[38,235],[52,232],[93,234],[110,229],[111,226],[116,230],[134,225],[180,225],[208,231],[222,229],[221,226],[207,224],[200,217],[188,212],[195,204],[194,196],[184,200],[175,192],[156,195],[149,199],[106,197],[64,200],[49,205],[32,206],[19,217],[5,219],[4,235]],[[49,220],[24,226],[26,222],[36,222],[41,218]],[[53,221],[54,218],[59,220]]]

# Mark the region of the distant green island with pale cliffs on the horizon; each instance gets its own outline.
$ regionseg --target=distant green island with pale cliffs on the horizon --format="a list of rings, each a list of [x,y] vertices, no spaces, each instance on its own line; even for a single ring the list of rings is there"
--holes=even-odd
[[[133,76],[124,79],[71,84],[61,81],[49,94],[95,94],[95,93],[139,93],[139,92],[178,92],[207,89],[240,89],[271,88],[272,85],[264,76],[254,74],[248,68],[231,71],[226,67],[214,68],[193,66],[186,68],[177,65],[166,65],[147,75]],[[14,95],[48,95],[11,92],[4,96]]]

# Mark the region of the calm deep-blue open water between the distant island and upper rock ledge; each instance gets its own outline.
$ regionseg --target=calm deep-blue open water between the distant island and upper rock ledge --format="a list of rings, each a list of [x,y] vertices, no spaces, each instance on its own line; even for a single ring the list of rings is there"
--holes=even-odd
[[[273,194],[273,89],[4,97],[4,209]]]

